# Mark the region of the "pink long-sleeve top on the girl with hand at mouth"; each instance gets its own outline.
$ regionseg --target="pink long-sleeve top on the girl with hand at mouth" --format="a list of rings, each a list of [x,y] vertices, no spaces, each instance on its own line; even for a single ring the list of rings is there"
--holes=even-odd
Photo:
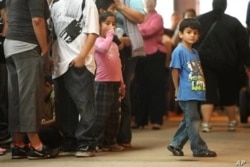
[[[113,37],[114,31],[110,30],[107,32],[106,38],[100,36],[96,39],[94,53],[96,62],[95,81],[120,81],[121,86],[125,86],[122,78],[119,48],[113,42]]]

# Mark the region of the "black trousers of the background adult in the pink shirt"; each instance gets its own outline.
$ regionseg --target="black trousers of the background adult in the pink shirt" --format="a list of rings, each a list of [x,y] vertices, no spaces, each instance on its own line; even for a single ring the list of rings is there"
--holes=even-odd
[[[136,68],[138,102],[135,123],[144,126],[163,123],[166,112],[166,54],[157,52],[141,59]]]

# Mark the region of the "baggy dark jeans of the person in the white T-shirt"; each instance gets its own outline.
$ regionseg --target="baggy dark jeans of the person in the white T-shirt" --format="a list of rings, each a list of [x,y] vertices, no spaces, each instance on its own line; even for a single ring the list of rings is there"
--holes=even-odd
[[[56,125],[68,150],[94,146],[94,75],[86,67],[69,70],[54,80]]]

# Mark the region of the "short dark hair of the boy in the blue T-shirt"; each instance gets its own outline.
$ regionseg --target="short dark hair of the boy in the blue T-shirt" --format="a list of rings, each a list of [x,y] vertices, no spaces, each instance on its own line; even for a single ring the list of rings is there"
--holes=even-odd
[[[179,26],[179,31],[183,32],[185,28],[190,27],[191,29],[198,30],[200,32],[201,24],[197,19],[187,18],[183,19]]]

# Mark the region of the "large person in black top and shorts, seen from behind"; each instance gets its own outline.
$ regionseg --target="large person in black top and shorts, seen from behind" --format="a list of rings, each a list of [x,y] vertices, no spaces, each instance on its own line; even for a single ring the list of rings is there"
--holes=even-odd
[[[212,11],[197,17],[201,22],[201,37],[194,45],[199,51],[207,86],[206,101],[201,105],[201,127],[203,132],[211,130],[214,106],[221,105],[228,115],[228,131],[235,131],[236,106],[243,86],[240,76],[245,72],[250,76],[249,39],[240,21],[224,13],[227,0],[213,0],[212,6]]]

